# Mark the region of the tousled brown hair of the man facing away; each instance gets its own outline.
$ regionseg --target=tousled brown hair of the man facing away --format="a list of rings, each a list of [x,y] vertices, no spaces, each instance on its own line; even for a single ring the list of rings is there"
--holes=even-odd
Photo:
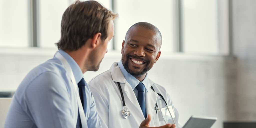
[[[96,1],[76,1],[62,16],[58,49],[76,51],[97,33],[101,33],[104,41],[110,34],[109,22],[116,17]]]

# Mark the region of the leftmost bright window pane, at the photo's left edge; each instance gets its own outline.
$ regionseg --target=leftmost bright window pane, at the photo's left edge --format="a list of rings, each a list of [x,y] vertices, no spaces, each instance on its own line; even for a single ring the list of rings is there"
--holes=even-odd
[[[0,47],[29,46],[28,2],[0,1]]]

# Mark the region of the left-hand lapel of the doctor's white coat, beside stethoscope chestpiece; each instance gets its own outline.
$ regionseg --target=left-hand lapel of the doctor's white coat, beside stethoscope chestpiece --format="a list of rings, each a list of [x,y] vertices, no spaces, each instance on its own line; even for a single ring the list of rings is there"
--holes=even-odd
[[[140,104],[132,90],[131,85],[125,80],[123,73],[120,68],[117,66],[117,62],[113,63],[110,68],[111,76],[114,82],[120,82],[120,86],[123,89],[124,100],[126,104],[126,108],[131,111],[131,116],[137,116],[136,118],[141,120],[141,122],[145,119],[144,115],[141,111]],[[126,97],[127,96],[127,97]],[[140,114],[136,114],[140,113]]]

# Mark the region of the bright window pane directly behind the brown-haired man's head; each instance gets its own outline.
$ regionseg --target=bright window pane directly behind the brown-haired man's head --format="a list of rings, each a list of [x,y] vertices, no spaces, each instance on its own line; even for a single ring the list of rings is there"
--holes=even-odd
[[[62,15],[73,0],[40,0],[39,1],[39,46],[42,48],[56,48],[55,43],[60,40]],[[98,1],[106,8],[111,8],[110,0]],[[112,43],[109,43],[111,47]]]

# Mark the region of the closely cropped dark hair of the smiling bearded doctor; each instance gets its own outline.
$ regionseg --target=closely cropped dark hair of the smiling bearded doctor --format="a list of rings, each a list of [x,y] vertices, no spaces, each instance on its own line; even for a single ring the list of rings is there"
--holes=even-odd
[[[128,33],[130,32],[130,30],[133,28],[133,27],[143,27],[143,28],[146,28],[148,30],[152,30],[154,31],[157,35],[160,36],[160,46],[159,46],[159,50],[162,46],[162,35],[160,33],[160,31],[158,30],[158,28],[156,26],[154,26],[153,24],[150,24],[150,23],[147,23],[147,22],[139,22],[139,23],[136,23],[134,25],[132,25],[128,31],[126,32],[126,35],[125,35],[125,40],[126,40],[126,37],[128,36]]]

